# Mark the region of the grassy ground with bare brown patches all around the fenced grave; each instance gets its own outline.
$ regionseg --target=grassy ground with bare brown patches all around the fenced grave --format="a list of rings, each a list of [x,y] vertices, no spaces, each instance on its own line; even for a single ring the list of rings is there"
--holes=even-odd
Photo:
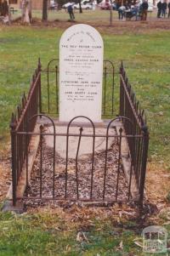
[[[59,56],[62,28],[44,26],[0,27],[0,198],[8,191],[10,142],[8,124],[14,106],[40,56],[42,66]],[[70,24],[69,24],[70,26]],[[150,152],[146,177],[147,201],[139,216],[135,206],[109,208],[29,208],[27,213],[0,213],[0,255],[144,255],[140,233],[147,225],[170,230],[169,88],[170,34],[165,26],[122,34],[99,26],[105,59],[116,71],[123,60],[127,75],[150,128]],[[118,80],[116,85],[118,85]],[[156,255],[156,254],[155,254]]]

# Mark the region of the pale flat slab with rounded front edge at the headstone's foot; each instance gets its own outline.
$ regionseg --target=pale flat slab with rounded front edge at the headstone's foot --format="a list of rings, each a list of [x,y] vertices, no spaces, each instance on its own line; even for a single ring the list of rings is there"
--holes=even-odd
[[[66,134],[67,127],[66,126],[56,126],[56,134]],[[53,127],[48,127],[46,130],[47,134],[54,133]],[[77,156],[77,145],[78,139],[80,134],[80,128],[78,127],[70,127],[69,134],[77,134],[77,136],[69,136],[69,153],[68,157],[75,159]],[[93,134],[93,128],[83,128],[82,134]],[[100,152],[105,151],[106,141],[105,141],[105,134],[106,128],[95,128],[96,135],[104,135],[104,137],[96,137],[95,144],[94,144],[94,151]],[[116,135],[115,128],[109,129],[109,135]],[[54,136],[53,135],[46,135],[44,136],[45,143],[48,147],[54,147]],[[111,145],[113,144],[114,137],[110,137],[108,139],[108,149],[110,149]],[[60,157],[66,157],[66,136],[56,136],[56,145],[55,151],[59,154]],[[82,137],[80,150],[78,154],[79,159],[85,159],[91,156],[93,152],[93,138],[92,137]]]

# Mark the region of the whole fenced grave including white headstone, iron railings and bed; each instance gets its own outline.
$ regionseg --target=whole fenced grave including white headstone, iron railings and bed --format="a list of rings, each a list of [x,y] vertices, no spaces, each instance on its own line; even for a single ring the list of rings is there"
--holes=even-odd
[[[139,202],[149,134],[121,64],[103,60],[93,27],[71,26],[59,60],[42,69],[11,120],[13,183],[8,198],[34,203]],[[116,76],[120,84],[115,84]]]

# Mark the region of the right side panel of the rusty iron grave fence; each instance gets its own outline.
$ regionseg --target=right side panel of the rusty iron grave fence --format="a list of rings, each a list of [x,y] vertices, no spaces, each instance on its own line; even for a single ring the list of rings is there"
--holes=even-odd
[[[140,201],[142,202],[144,197],[144,180],[148,156],[149,133],[146,126],[144,110],[141,109],[139,101],[136,99],[123,64],[120,68],[120,116],[129,118],[133,123],[133,125],[131,125],[126,119],[123,120],[126,134],[143,136],[142,139],[139,139],[138,136],[133,137],[133,139],[127,137],[133,172],[139,188]]]

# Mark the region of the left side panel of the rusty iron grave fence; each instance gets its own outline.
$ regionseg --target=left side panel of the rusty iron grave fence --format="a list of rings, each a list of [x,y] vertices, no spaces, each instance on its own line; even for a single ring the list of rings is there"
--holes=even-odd
[[[16,202],[16,188],[20,175],[28,155],[28,146],[31,135],[26,131],[33,131],[37,122],[32,116],[41,112],[41,63],[38,61],[37,69],[31,79],[31,87],[26,98],[23,94],[21,104],[17,106],[16,114],[12,114],[11,128],[11,149],[12,149],[12,179],[13,179],[13,200]],[[21,133],[21,134],[20,134]],[[22,134],[23,133],[23,134]]]

